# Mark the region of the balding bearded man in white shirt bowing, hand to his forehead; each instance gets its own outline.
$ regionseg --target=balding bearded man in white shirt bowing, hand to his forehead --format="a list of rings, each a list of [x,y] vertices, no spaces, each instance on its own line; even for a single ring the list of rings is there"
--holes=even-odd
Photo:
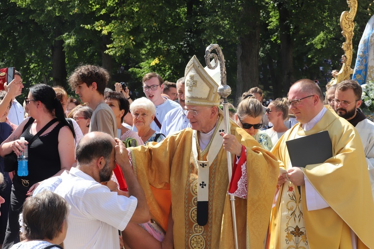
[[[34,195],[51,190],[70,205],[65,249],[118,249],[118,230],[129,222],[150,220],[144,191],[130,167],[128,151],[119,139],[103,132],[86,134],[76,148],[78,165],[69,173],[44,181]],[[110,180],[116,163],[128,185],[129,198],[100,182]],[[111,192],[113,191],[113,192]]]

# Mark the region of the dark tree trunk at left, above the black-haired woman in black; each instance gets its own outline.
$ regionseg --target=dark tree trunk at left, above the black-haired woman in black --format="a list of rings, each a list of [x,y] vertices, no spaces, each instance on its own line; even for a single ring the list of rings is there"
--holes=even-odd
[[[58,37],[62,35],[59,27],[54,30],[54,42],[52,46],[52,79],[53,85],[61,85],[66,89],[66,62],[64,41],[59,40]]]

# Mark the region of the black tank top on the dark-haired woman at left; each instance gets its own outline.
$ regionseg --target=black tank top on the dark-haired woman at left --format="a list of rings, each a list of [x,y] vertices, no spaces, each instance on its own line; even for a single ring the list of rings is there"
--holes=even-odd
[[[21,135],[21,137],[24,137],[26,141],[29,141],[34,136],[30,133],[31,125],[32,123]],[[60,171],[61,163],[58,150],[58,137],[60,129],[63,126],[63,124],[59,123],[50,132],[43,136],[39,136],[31,145],[29,145],[27,164],[28,176],[22,176],[22,179],[30,180],[32,182],[40,182]]]

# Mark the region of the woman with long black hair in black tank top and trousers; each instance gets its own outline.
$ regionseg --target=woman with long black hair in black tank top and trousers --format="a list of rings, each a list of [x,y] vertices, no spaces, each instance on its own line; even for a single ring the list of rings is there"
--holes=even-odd
[[[30,118],[25,119],[0,146],[2,157],[13,151],[19,156],[28,147],[28,173],[20,176],[16,168],[13,177],[4,248],[19,242],[18,217],[26,197],[32,195],[39,182],[70,170],[75,160],[74,130],[66,121],[53,88],[46,84],[32,86],[25,103]],[[41,130],[42,133],[33,139],[32,144],[29,143]],[[20,140],[21,137],[25,141]]]

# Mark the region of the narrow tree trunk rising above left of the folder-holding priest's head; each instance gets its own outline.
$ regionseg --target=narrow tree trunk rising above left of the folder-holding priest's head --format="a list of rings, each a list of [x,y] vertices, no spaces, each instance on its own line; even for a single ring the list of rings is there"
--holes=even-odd
[[[279,11],[279,28],[280,28],[280,39],[281,39],[281,62],[282,62],[282,73],[281,73],[281,84],[285,93],[288,92],[289,87],[295,82],[293,75],[293,43],[291,37],[290,26],[290,13],[288,12],[284,2],[281,1],[277,5]],[[280,87],[282,88],[282,87]]]

